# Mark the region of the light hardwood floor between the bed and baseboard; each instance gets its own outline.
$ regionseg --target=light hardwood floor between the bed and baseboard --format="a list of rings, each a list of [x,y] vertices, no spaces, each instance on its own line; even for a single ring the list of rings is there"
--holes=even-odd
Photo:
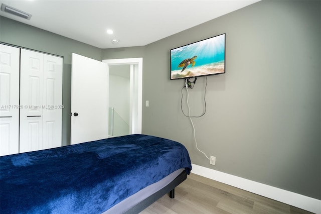
[[[311,212],[191,173],[175,188],[175,198],[164,195],[140,213],[306,214]]]

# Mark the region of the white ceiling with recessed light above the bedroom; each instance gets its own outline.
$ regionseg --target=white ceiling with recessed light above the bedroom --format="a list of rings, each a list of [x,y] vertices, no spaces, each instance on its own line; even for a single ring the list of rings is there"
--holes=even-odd
[[[98,48],[120,48],[147,45],[259,1],[1,0],[32,17],[0,15]]]

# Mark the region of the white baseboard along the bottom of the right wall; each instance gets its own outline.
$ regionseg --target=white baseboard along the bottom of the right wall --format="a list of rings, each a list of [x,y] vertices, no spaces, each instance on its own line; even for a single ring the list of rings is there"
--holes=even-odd
[[[219,181],[264,197],[271,198],[316,214],[321,214],[321,200],[300,195],[284,189],[230,175],[214,169],[192,164],[192,173]]]

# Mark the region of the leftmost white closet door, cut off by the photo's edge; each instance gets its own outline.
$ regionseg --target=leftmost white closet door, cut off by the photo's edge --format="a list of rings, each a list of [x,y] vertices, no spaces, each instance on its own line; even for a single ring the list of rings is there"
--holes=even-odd
[[[20,49],[0,44],[0,156],[19,152]]]

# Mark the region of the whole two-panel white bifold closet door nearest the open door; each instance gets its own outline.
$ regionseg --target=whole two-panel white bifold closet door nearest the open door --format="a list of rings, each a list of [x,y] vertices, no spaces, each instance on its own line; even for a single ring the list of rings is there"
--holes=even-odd
[[[21,50],[20,152],[61,146],[62,58]]]

